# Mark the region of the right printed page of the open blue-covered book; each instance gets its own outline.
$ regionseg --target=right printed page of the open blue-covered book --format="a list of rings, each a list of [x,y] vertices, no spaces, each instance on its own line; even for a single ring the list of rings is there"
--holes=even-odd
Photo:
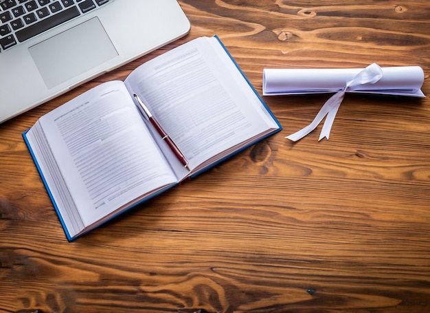
[[[190,168],[278,128],[214,37],[194,39],[146,62],[126,79]]]

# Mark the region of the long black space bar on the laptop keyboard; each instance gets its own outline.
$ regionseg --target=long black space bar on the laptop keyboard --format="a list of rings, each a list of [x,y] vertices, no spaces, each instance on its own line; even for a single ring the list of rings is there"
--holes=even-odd
[[[70,19],[78,17],[79,15],[80,12],[78,8],[73,6],[67,10],[59,12],[58,14],[52,15],[51,17],[47,17],[38,23],[34,23],[23,30],[19,30],[16,32],[16,38],[18,41],[23,42],[45,32],[45,30],[49,30],[50,28],[54,28],[65,21],[69,21]]]

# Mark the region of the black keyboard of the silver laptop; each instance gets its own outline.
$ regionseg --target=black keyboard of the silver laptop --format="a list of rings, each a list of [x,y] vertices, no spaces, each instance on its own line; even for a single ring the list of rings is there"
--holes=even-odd
[[[112,0],[0,0],[0,53]]]

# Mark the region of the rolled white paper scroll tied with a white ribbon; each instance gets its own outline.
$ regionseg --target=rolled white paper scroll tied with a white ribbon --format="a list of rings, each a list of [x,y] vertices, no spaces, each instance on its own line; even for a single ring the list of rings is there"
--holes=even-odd
[[[286,137],[297,141],[326,117],[321,140],[328,139],[346,92],[424,97],[422,83],[424,71],[419,66],[380,67],[372,63],[365,69],[264,69],[263,96],[336,92],[308,126]]]

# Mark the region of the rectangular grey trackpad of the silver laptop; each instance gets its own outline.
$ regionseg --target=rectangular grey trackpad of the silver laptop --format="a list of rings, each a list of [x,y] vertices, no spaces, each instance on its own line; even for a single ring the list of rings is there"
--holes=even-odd
[[[118,55],[97,17],[28,50],[48,89]]]

